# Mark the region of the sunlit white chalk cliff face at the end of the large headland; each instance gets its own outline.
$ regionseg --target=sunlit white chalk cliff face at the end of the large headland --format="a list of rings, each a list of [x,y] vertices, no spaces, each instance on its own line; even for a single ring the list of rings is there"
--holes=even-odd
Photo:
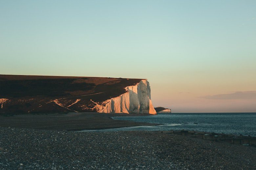
[[[94,109],[101,113],[149,113],[157,114],[151,101],[151,91],[147,79],[125,88],[126,93],[98,104]]]

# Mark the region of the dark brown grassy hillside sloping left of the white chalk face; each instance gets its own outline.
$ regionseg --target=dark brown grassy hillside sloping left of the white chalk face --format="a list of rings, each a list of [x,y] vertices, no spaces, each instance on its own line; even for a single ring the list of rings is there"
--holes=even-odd
[[[92,112],[141,79],[0,75],[0,113]],[[93,102],[92,102],[92,101]]]

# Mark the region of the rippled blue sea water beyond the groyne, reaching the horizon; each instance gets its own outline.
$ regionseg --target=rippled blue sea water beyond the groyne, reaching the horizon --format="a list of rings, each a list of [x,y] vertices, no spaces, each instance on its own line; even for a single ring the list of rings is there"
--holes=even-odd
[[[256,136],[256,113],[171,113],[152,116],[119,116],[113,117],[113,119],[157,123],[163,125],[122,127],[93,131],[158,131],[186,129],[225,134],[242,134]]]

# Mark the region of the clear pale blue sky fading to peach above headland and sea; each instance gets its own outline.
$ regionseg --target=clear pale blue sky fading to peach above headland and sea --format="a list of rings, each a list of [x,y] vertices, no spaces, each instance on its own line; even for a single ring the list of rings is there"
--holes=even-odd
[[[0,74],[146,78],[155,107],[256,112],[254,0],[0,0]]]

